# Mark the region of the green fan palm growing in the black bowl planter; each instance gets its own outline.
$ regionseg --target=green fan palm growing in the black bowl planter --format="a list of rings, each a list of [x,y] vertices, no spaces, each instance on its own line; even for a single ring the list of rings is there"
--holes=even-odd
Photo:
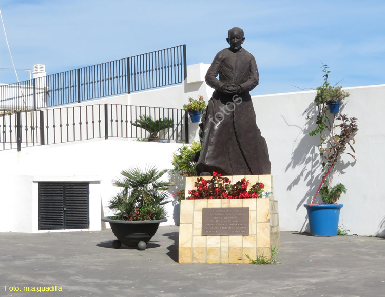
[[[158,171],[155,166],[132,167],[121,172],[121,179],[113,185],[122,189],[109,201],[115,219],[126,221],[160,220],[166,217],[164,205],[170,182],[160,180],[167,169]]]

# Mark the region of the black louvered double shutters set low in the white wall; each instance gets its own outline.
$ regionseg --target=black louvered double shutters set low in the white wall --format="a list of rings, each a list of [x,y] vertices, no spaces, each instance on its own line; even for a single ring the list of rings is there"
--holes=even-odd
[[[89,183],[39,183],[39,230],[89,228]]]

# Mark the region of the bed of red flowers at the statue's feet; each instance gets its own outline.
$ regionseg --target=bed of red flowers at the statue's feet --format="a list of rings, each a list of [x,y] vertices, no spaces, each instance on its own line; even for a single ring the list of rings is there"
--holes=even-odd
[[[268,197],[271,192],[266,193],[264,184],[257,182],[248,188],[249,181],[242,179],[235,184],[227,177],[222,177],[220,173],[213,172],[211,180],[198,177],[195,182],[195,190],[188,191],[190,195],[187,199],[239,199],[239,198],[258,198]]]

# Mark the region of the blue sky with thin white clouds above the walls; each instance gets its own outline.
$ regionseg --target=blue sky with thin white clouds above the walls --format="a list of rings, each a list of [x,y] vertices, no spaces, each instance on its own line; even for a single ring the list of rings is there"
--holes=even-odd
[[[0,0],[0,9],[16,69],[41,63],[53,74],[181,44],[188,65],[211,63],[237,26],[260,72],[253,95],[316,88],[321,61],[332,84],[385,84],[383,0]],[[16,82],[3,31],[0,54],[0,82]]]

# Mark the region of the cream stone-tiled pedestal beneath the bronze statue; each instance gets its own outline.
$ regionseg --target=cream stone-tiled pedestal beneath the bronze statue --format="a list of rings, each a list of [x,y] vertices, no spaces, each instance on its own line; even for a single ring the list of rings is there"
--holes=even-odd
[[[261,182],[268,198],[248,199],[197,199],[182,200],[179,228],[179,263],[249,263],[263,253],[271,255],[271,248],[278,247],[279,221],[278,202],[274,200],[271,175],[226,176],[232,184],[246,178],[249,185]],[[209,178],[208,178],[209,179]],[[195,189],[197,177],[187,177],[188,191]],[[202,236],[203,208],[247,207],[249,209],[248,235],[204,235]]]

